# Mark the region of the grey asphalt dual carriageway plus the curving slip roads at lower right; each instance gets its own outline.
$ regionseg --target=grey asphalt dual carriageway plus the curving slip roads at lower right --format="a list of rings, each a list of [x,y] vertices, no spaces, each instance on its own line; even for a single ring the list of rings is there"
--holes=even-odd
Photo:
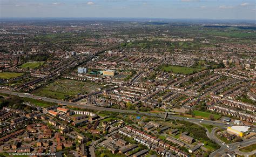
[[[70,103],[68,101],[63,101],[63,100],[57,100],[57,99],[51,99],[51,98],[46,98],[46,97],[41,97],[37,95],[32,95],[32,94],[24,94],[24,93],[19,93],[19,92],[13,92],[13,91],[6,91],[6,90],[0,90],[0,93],[6,93],[10,95],[17,95],[19,97],[26,97],[26,98],[32,98],[32,99],[41,99],[43,101],[48,101],[51,103],[58,103],[58,104],[63,104],[66,106],[72,106],[72,107],[78,107],[78,108],[87,108],[90,110],[97,110],[97,111],[111,111],[111,112],[119,112],[119,113],[127,113],[127,114],[139,114],[139,115],[147,115],[147,116],[153,116],[153,117],[158,117],[158,118],[163,118],[165,117],[165,114],[156,114],[156,113],[147,113],[147,112],[139,112],[139,111],[132,111],[132,110],[120,110],[116,108],[106,108],[106,107],[99,107],[99,106],[93,106],[93,105],[80,105],[77,103]],[[218,128],[226,128],[228,125],[224,122],[220,121],[211,121],[211,120],[204,120],[204,119],[196,119],[196,118],[186,118],[186,117],[179,117],[177,115],[168,115],[167,119],[172,119],[172,120],[185,120],[185,121],[190,121],[193,123],[198,123],[198,124],[208,124],[208,125],[215,125],[218,126]],[[252,127],[252,129],[256,130],[256,127]],[[250,140],[246,140],[243,142],[237,142],[234,144],[228,145],[230,148],[227,147],[226,144],[223,145],[223,142],[221,142],[218,138],[215,137],[214,132],[217,128],[214,128],[211,133],[207,133],[208,137],[217,144],[221,146],[217,151],[214,151],[211,153],[210,156],[219,156],[223,155],[227,152],[230,151],[235,151],[238,146],[244,147],[248,146],[251,144],[255,144],[256,138],[252,138]]]

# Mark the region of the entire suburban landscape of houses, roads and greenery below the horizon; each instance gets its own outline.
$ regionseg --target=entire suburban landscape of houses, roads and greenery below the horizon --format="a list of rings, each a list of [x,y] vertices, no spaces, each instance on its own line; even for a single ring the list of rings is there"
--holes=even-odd
[[[255,22],[2,19],[0,39],[0,156],[256,154]]]

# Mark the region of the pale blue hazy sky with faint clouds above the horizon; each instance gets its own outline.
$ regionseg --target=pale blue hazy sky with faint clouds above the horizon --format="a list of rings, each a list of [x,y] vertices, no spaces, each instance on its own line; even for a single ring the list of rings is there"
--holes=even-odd
[[[256,19],[256,0],[0,0],[2,17]]]

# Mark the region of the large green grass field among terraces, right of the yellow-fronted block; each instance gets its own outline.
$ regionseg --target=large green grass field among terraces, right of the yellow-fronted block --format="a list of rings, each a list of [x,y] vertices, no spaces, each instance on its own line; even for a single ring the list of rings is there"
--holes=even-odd
[[[163,66],[161,70],[167,72],[181,73],[181,74],[191,74],[201,71],[201,69],[196,69],[192,67],[180,67],[180,66]]]

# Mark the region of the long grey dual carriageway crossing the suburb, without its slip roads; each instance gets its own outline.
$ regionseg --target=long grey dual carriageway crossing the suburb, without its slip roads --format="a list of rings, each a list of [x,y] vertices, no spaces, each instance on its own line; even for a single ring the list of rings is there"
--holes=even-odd
[[[47,102],[51,102],[51,103],[58,103],[58,104],[77,107],[77,108],[86,108],[89,110],[110,111],[110,112],[119,112],[119,113],[127,113],[127,114],[139,114],[139,115],[146,115],[146,116],[158,117],[158,118],[163,118],[163,119],[165,118],[165,114],[139,112],[139,111],[134,111],[134,110],[120,110],[117,108],[106,108],[106,107],[100,107],[100,106],[94,106],[94,105],[84,105],[84,104],[82,105],[82,104],[71,103],[71,102],[63,101],[63,100],[57,100],[57,99],[51,99],[51,98],[41,97],[41,96],[37,96],[37,95],[32,95],[29,93],[19,93],[19,92],[14,92],[14,91],[7,91],[7,90],[0,90],[0,93],[17,95],[19,97],[26,97],[26,98],[31,98],[31,99],[38,99],[38,100],[43,100],[43,101],[47,101]],[[212,121],[212,120],[204,120],[204,119],[196,119],[196,118],[186,118],[186,117],[180,117],[177,115],[170,115],[170,114],[167,117],[167,119],[185,120],[185,121],[190,121],[190,122],[194,122],[194,123],[215,125],[215,126],[220,126],[220,127],[227,126],[227,124],[225,124],[224,122],[220,122],[220,121]],[[256,130],[255,127],[252,127],[252,128]]]

